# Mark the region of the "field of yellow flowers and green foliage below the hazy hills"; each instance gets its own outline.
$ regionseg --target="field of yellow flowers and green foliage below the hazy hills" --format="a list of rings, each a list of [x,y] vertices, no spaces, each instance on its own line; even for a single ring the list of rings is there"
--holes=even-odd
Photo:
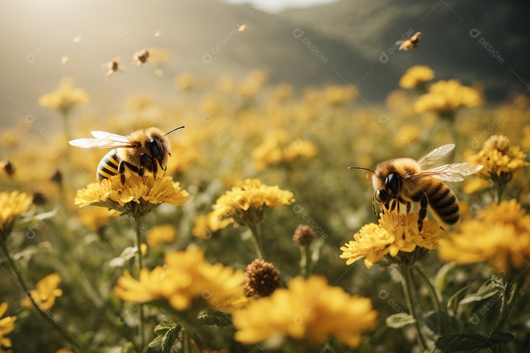
[[[489,103],[427,66],[372,105],[262,70],[170,79],[176,101],[131,92],[93,115],[94,92],[57,77],[38,98],[52,140],[27,122],[0,132],[0,351],[526,351],[527,96]],[[182,125],[166,165],[123,181],[96,178],[112,147],[68,143]],[[348,169],[447,144],[423,169],[482,166],[438,182],[454,225],[411,197],[385,204],[370,171]]]

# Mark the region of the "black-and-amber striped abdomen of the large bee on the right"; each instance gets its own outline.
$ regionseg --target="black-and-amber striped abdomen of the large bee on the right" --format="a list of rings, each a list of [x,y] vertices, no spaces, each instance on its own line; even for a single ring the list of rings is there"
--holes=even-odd
[[[432,179],[429,184],[430,186],[424,191],[414,194],[412,200],[419,202],[421,195],[425,193],[428,205],[441,221],[449,225],[458,222],[460,203],[458,203],[455,193],[441,180]]]

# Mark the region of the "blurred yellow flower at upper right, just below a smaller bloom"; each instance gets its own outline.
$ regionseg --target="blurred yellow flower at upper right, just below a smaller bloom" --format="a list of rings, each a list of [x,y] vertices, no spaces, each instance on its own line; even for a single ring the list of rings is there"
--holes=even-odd
[[[441,115],[451,115],[458,108],[474,107],[482,103],[480,92],[463,86],[458,80],[439,80],[429,86],[429,92],[414,102],[414,111],[422,113],[435,111]]]

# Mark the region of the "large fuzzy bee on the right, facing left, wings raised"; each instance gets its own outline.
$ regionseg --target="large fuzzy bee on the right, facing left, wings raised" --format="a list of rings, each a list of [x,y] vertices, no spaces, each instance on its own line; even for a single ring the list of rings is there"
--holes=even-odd
[[[444,182],[461,182],[460,175],[471,175],[482,169],[480,164],[452,163],[422,170],[430,166],[455,148],[452,143],[444,144],[430,151],[427,156],[413,160],[412,158],[395,158],[379,163],[373,173],[372,207],[375,213],[375,202],[381,203],[384,210],[399,212],[399,203],[407,204],[410,212],[411,203],[419,202],[418,229],[421,231],[423,220],[427,215],[427,206],[445,224],[453,225],[460,218],[460,204],[455,193]]]

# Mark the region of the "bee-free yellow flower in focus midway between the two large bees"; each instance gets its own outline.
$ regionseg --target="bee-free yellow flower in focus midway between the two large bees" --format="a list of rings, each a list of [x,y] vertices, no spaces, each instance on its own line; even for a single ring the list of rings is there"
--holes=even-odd
[[[230,218],[240,224],[258,224],[266,210],[294,201],[290,191],[263,185],[259,179],[246,179],[241,187],[233,187],[217,199],[211,219],[215,224],[223,224],[223,220]]]

